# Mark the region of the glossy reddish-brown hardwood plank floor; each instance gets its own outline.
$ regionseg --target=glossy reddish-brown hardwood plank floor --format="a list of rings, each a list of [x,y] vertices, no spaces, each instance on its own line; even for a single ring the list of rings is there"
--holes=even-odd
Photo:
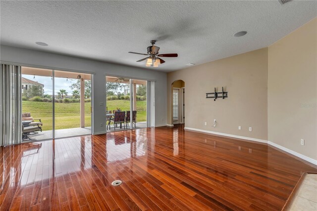
[[[317,171],[265,144],[181,127],[1,147],[0,160],[1,211],[281,210]]]

